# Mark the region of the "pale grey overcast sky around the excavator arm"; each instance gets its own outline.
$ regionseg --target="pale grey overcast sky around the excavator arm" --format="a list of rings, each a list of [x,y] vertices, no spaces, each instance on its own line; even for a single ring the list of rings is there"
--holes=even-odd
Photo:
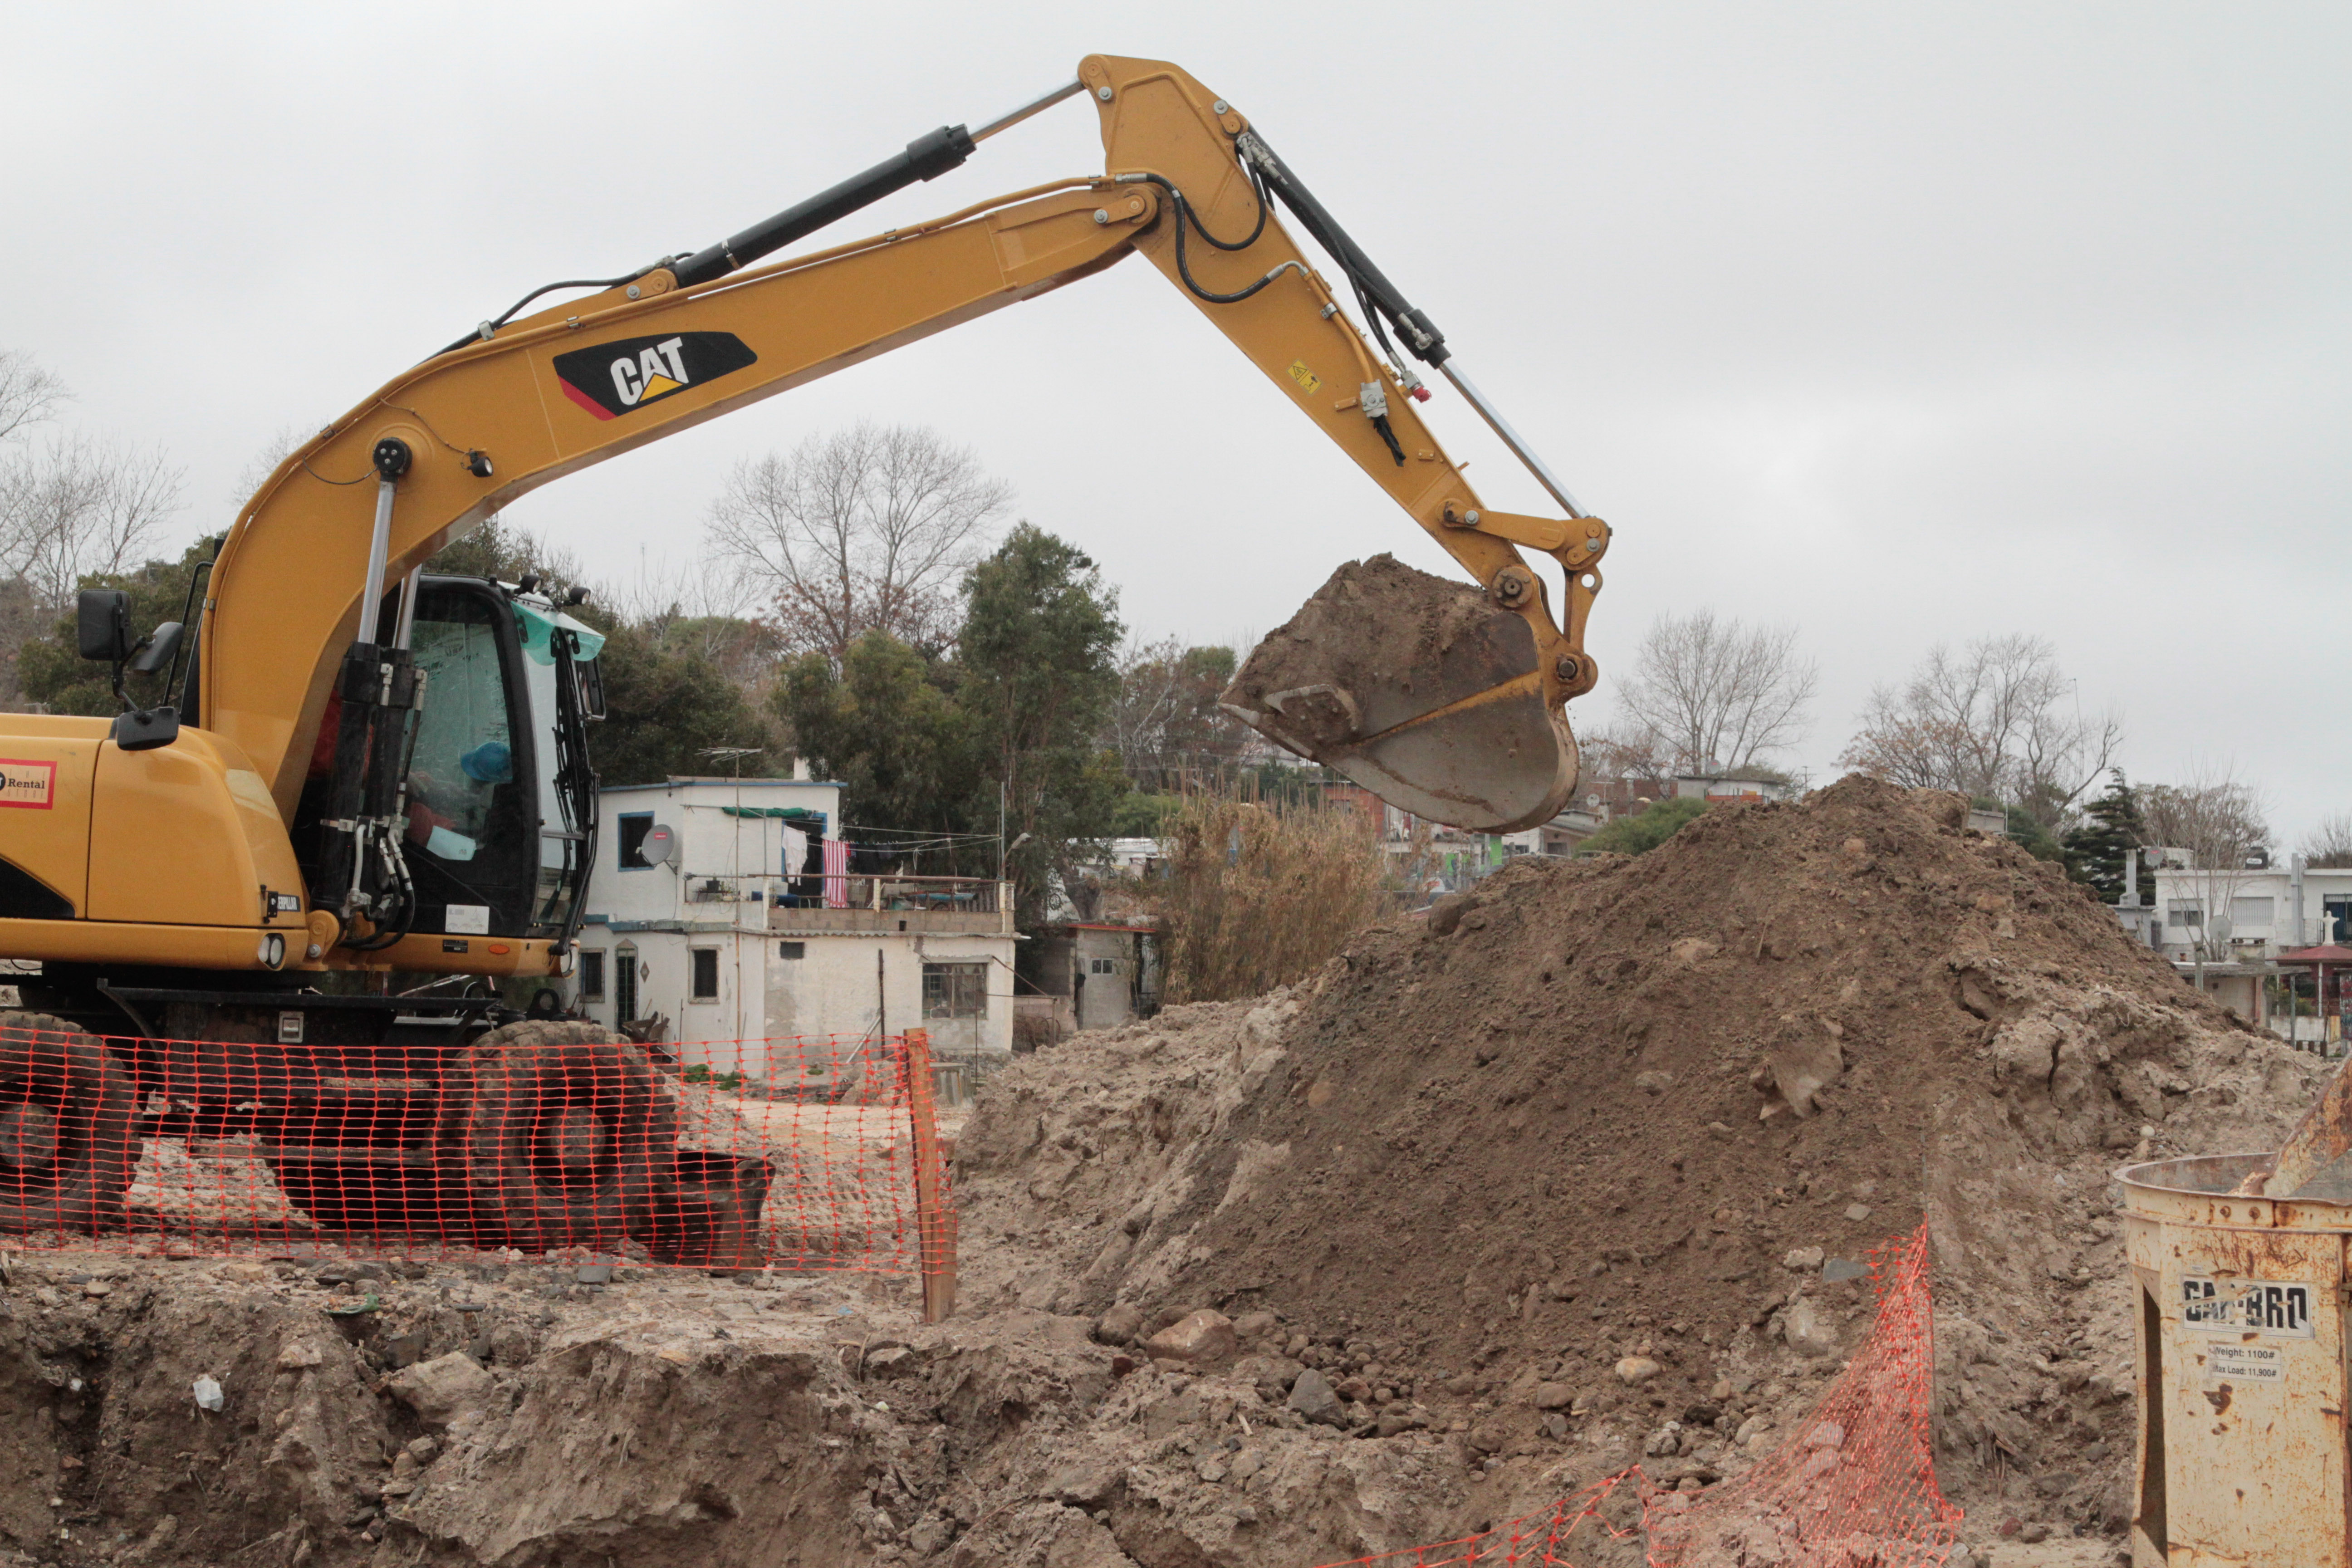
[[[1590,646],[1788,621],[1816,776],[1933,642],[2049,637],[2138,778],[2352,809],[2352,7],[9,5],[0,348],[223,527],[320,425],[524,289],[699,249],[1103,49],[1308,179],[1616,524]],[[1101,169],[1082,103],[826,240]],[[814,242],[811,242],[814,244]],[[1451,571],[1141,261],[546,487],[593,571],[694,559],[741,456],[927,423],[1143,635]],[[1430,418],[1536,508],[1475,416]],[[1606,682],[1606,675],[1604,675]],[[1571,710],[1606,717],[1606,684]]]

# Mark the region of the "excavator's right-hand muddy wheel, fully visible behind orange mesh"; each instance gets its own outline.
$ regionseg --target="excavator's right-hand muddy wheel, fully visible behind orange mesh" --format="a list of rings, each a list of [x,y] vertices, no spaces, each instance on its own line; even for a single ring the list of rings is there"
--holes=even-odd
[[[433,1143],[452,1220],[485,1244],[614,1248],[675,1206],[677,1107],[644,1046],[593,1023],[510,1023],[461,1051]]]

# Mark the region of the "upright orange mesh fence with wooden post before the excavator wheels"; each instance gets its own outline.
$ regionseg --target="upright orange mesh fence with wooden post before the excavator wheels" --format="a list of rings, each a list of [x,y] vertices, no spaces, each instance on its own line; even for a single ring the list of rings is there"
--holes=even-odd
[[[325,1032],[318,1011],[308,1023]],[[195,1041],[0,1020],[0,1239],[920,1272],[927,1300],[929,1276],[953,1281],[920,1030],[393,1034]]]

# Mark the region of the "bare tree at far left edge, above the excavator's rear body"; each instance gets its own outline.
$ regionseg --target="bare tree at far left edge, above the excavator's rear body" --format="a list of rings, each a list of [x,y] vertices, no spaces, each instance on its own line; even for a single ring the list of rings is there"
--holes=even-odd
[[[162,451],[68,435],[0,465],[0,576],[64,607],[87,574],[132,569],[179,510]]]

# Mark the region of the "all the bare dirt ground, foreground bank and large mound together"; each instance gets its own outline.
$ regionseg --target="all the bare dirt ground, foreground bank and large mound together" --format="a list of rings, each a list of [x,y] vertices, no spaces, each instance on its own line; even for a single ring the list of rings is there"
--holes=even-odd
[[[851,1272],[14,1253],[0,1542],[1310,1568],[1632,1462],[1705,1497],[1799,1429],[1870,1326],[1853,1265],[1924,1218],[1952,1561],[2103,1566],[2110,1175],[2274,1147],[2317,1081],[1952,797],[1846,780],[1016,1060],[957,1135],[941,1326]]]

